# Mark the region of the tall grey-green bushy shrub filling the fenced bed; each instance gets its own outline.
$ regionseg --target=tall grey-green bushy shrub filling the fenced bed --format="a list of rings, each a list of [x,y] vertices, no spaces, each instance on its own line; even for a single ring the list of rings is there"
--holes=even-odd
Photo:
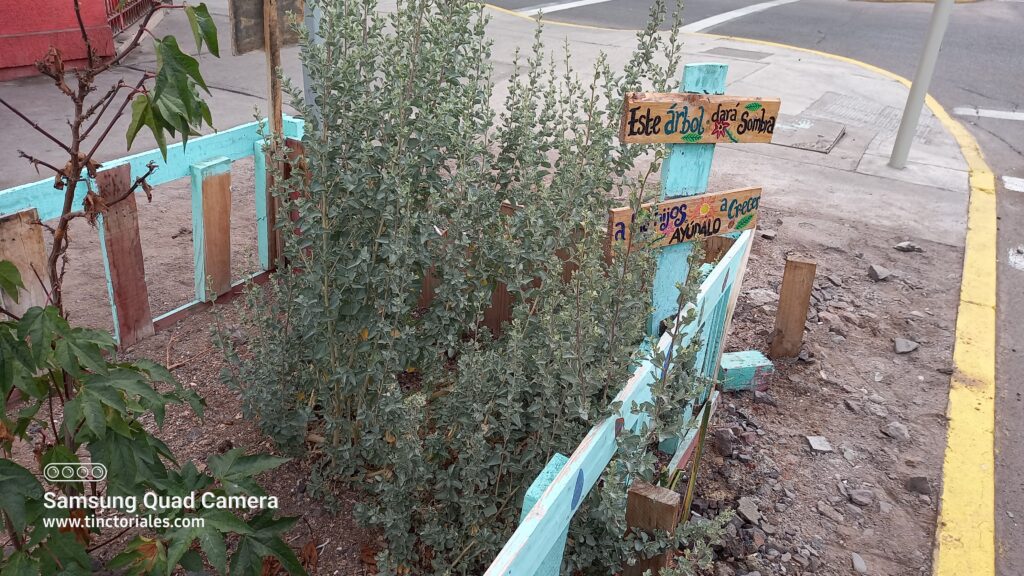
[[[358,519],[387,542],[382,573],[479,574],[526,486],[631,373],[654,251],[609,264],[607,210],[639,206],[662,153],[615,133],[624,92],[675,88],[678,37],[656,32],[658,3],[627,72],[601,55],[585,82],[539,29],[526,55],[508,55],[496,114],[480,5],[310,3],[323,13],[302,49],[315,101],[292,90],[303,160],[274,179],[292,271],[250,294],[248,344],[222,339],[225,377],[269,436],[316,463],[315,491],[359,492]],[[645,154],[654,162],[637,169]],[[499,283],[513,318],[495,338],[482,321]],[[646,446],[655,429],[631,438]],[[580,521],[600,525],[586,530],[600,541],[573,538],[583,551],[569,554],[605,574],[624,561],[595,549],[623,538],[626,477],[609,478],[620,501]]]

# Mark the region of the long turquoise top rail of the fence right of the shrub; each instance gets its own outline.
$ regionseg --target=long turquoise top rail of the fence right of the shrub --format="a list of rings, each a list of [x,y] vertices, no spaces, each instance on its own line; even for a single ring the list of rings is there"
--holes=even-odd
[[[752,240],[753,234],[750,231],[742,233],[718,265],[701,282],[695,304],[698,317],[703,310],[712,311],[720,302],[728,303],[729,288],[737,278],[736,273],[742,265],[743,253]],[[683,331],[684,341],[692,338],[695,331],[695,323],[687,326]],[[670,343],[671,337],[669,334],[664,334],[657,342],[658,349],[666,351]],[[615,421],[622,418],[624,427],[634,428],[646,418],[645,414],[635,413],[634,407],[650,400],[650,384],[654,381],[654,367],[649,361],[640,364],[633,377],[613,400],[622,403],[618,414],[591,428],[537,504],[522,519],[505,547],[487,568],[485,576],[513,574],[522,576],[538,573],[551,549],[552,542],[560,538],[583,498],[593,488],[614,455],[617,449]]]

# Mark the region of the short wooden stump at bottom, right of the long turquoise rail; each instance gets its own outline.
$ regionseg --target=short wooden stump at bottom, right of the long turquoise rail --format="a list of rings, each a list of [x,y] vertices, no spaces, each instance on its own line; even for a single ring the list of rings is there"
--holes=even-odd
[[[682,495],[675,490],[652,486],[642,480],[634,480],[626,497],[626,525],[632,529],[674,532],[683,509]],[[623,576],[641,576],[650,570],[654,576],[669,565],[675,550],[667,550],[654,558],[639,560],[633,566],[623,568]]]

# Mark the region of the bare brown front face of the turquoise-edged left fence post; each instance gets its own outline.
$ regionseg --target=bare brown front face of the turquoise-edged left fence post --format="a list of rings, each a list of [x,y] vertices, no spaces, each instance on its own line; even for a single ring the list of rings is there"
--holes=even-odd
[[[203,229],[207,291],[219,296],[231,289],[231,173],[203,178]]]

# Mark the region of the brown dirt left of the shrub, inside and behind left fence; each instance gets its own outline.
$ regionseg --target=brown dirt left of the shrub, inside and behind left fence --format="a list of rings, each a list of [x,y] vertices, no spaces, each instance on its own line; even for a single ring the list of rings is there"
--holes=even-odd
[[[238,282],[259,270],[251,159],[232,164],[231,197],[231,277]],[[187,178],[156,188],[151,204],[137,197],[146,285],[155,317],[195,299],[190,198]],[[65,293],[72,321],[111,330],[98,236],[82,219],[74,222],[69,257]],[[243,447],[248,453],[273,453],[270,440],[242,418],[239,394],[219,381],[224,363],[212,343],[211,328],[218,322],[233,326],[233,312],[231,306],[218,306],[201,313],[123,352],[125,358],[148,358],[172,367],[182,384],[206,400],[203,420],[187,409],[171,407],[159,433],[181,463],[199,464],[233,447]],[[18,459],[28,461],[31,452],[23,450]],[[317,546],[317,574],[372,574],[360,552],[364,547],[379,549],[379,544],[352,520],[353,500],[341,495],[338,508],[329,510],[306,494],[309,477],[309,462],[293,460],[260,478],[267,493],[279,497],[280,513],[300,518],[286,540],[296,553],[310,541]]]

